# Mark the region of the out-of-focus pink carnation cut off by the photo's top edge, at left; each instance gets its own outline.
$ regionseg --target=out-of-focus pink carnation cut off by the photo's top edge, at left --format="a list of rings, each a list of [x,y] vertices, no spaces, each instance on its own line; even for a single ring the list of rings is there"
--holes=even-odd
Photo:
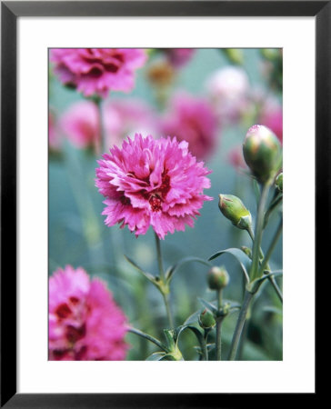
[[[105,97],[109,91],[131,91],[134,72],[145,64],[140,48],[54,48],[50,60],[62,83],[85,96]]]

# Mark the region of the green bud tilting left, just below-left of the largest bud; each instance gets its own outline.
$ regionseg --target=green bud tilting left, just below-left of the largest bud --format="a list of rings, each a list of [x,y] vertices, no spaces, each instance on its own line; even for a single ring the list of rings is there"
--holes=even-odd
[[[239,229],[247,229],[252,224],[252,216],[243,202],[234,195],[219,195],[219,210]]]

